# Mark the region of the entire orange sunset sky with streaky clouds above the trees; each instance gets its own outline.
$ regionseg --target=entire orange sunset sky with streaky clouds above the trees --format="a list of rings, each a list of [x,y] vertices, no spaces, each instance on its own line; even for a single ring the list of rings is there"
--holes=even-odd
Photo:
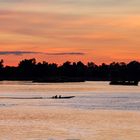
[[[0,0],[0,59],[140,61],[140,0]]]

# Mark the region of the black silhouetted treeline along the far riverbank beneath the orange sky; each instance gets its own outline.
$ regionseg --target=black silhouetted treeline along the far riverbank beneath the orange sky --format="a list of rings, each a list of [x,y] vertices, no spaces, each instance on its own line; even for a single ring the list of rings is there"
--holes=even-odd
[[[89,62],[65,62],[62,65],[37,62],[36,59],[25,59],[18,66],[4,66],[0,61],[0,80],[39,80],[49,78],[82,78],[84,80],[140,80],[140,63],[132,61],[128,64],[113,62],[96,65]]]

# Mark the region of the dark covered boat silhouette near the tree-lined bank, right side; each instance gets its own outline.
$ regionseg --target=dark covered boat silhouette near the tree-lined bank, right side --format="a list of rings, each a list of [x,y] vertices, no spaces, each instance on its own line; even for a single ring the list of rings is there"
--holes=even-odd
[[[111,81],[110,85],[138,86],[139,81]]]

